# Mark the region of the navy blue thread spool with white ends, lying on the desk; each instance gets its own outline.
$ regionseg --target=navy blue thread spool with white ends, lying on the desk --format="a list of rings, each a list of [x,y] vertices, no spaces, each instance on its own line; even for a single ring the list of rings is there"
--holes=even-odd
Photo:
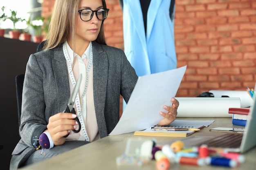
[[[237,162],[233,159],[222,158],[222,157],[207,157],[206,163],[212,166],[225,166],[225,167],[236,167]]]

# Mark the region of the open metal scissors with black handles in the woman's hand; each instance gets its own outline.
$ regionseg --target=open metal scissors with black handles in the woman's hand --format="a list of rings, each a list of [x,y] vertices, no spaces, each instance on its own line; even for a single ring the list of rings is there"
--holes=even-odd
[[[75,99],[76,99],[76,95],[77,95],[77,93],[78,93],[78,90],[79,90],[79,87],[80,87],[81,82],[82,82],[82,75],[80,74],[80,75],[79,75],[79,78],[78,78],[78,80],[77,80],[77,82],[76,82],[76,86],[75,86],[74,90],[72,91],[72,93],[71,93],[71,95],[70,95],[70,99],[69,99],[69,101],[68,101],[68,103],[67,103],[67,107],[66,107],[66,109],[63,111],[63,113],[73,113],[73,114],[76,114],[76,111],[75,111],[75,109],[73,108],[73,106],[74,106],[74,101],[75,101]],[[78,130],[73,129],[72,131],[75,132],[75,133],[78,133],[78,132],[80,132],[80,130],[81,130],[81,123],[80,123],[78,117],[74,118],[74,120],[77,121],[78,126],[79,126],[79,129],[78,129]],[[67,134],[67,135],[64,136],[64,137],[67,137],[68,135],[69,135],[69,134]]]

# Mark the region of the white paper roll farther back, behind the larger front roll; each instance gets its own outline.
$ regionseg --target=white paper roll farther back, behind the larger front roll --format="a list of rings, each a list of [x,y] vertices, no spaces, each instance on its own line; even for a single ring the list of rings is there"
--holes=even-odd
[[[253,99],[247,93],[247,91],[223,91],[223,90],[211,90],[210,93],[213,93],[214,97],[228,96],[228,97],[240,97],[241,108],[247,108],[252,106]]]

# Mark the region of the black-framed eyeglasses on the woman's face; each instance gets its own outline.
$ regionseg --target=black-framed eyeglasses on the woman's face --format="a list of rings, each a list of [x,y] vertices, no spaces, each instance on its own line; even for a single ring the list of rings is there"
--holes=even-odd
[[[105,20],[108,16],[109,9],[98,9],[96,11],[93,11],[91,9],[81,9],[78,11],[80,13],[81,20],[90,21],[93,17],[94,12],[99,20]]]

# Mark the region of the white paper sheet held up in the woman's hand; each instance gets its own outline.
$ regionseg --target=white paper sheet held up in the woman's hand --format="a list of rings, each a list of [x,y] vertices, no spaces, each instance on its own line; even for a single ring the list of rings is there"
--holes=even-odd
[[[161,73],[138,78],[129,102],[109,135],[143,130],[159,123],[163,117],[159,114],[164,105],[171,106],[171,97],[175,97],[186,66]]]

